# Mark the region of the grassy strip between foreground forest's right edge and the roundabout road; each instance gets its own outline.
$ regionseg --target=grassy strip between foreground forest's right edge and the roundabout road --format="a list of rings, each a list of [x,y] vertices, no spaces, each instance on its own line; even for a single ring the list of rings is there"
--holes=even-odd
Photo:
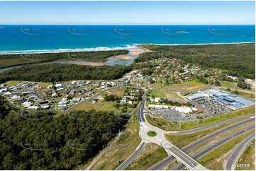
[[[140,136],[138,135],[139,126],[136,118],[136,112],[133,113],[133,119],[126,126],[126,131],[132,132],[130,138],[123,136],[121,140],[118,140],[118,147],[121,143],[126,144],[124,150],[112,146],[111,149],[105,153],[96,163],[91,167],[91,170],[114,170],[118,167],[118,161],[123,162],[126,160],[140,144]],[[113,143],[113,141],[111,142]]]

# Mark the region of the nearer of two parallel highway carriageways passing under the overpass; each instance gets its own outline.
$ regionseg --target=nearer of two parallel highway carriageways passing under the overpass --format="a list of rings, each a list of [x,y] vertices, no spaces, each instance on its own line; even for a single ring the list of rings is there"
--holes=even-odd
[[[222,146],[223,144],[227,143],[228,141],[230,141],[238,136],[241,136],[241,135],[245,134],[245,132],[251,131],[252,129],[255,129],[255,125],[248,126],[247,129],[241,129],[240,131],[235,132],[235,134],[232,134],[231,136],[228,135],[215,143],[208,144],[208,146],[206,146],[205,148],[201,149],[199,152],[192,155],[192,158],[194,158],[195,160],[199,160],[199,158],[202,158],[202,157],[204,157],[204,155],[210,153],[211,151],[216,150],[216,148],[218,148],[219,146]],[[179,165],[174,167],[173,170],[183,170],[184,167],[185,167],[185,165],[180,163]]]

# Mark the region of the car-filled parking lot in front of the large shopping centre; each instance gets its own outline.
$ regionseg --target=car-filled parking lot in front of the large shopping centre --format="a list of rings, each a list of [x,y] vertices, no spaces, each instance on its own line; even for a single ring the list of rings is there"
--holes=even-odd
[[[223,114],[226,112],[232,111],[226,105],[217,102],[216,100],[201,98],[199,100],[191,100],[189,101],[191,104],[195,105],[195,107],[200,107],[202,110],[205,110],[208,113],[208,116],[211,117],[217,114]]]

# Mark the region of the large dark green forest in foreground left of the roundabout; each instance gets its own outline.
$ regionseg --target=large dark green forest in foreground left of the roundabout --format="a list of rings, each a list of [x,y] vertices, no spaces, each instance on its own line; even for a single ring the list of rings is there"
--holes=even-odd
[[[9,111],[3,100],[0,109],[9,112],[0,119],[0,170],[72,170],[99,153],[126,124],[113,112],[69,114],[80,120],[41,113],[40,119],[29,120]]]

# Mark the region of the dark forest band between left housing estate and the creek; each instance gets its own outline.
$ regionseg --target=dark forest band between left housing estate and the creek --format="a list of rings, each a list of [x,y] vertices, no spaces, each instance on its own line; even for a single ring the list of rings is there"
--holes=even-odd
[[[74,64],[36,64],[0,74],[0,83],[19,81],[114,80],[131,71],[131,66],[80,66]]]

